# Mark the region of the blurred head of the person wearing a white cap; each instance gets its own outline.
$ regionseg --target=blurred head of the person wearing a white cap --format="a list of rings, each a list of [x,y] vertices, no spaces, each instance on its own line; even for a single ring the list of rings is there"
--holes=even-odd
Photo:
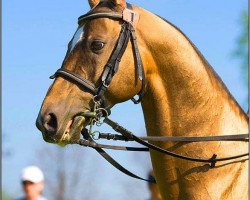
[[[44,175],[36,166],[25,167],[22,171],[21,182],[27,199],[34,199],[43,191]]]

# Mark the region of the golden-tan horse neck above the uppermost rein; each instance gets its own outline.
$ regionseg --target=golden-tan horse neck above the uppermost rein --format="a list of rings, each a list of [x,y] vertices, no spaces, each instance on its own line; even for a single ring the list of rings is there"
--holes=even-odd
[[[155,15],[141,15],[148,135],[247,132],[246,115],[188,38]]]

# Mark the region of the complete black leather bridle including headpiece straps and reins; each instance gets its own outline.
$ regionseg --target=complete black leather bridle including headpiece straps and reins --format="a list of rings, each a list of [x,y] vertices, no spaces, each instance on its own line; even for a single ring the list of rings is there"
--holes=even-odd
[[[132,43],[134,58],[135,58],[135,68],[137,72],[137,77],[142,82],[142,88],[140,92],[138,93],[139,98],[136,100],[135,98],[132,98],[132,101],[137,104],[140,103],[142,96],[145,91],[145,75],[144,75],[144,69],[143,64],[141,60],[141,56],[139,53],[138,45],[136,42],[136,35],[135,35],[135,29],[133,27],[133,23],[135,22],[136,18],[138,18],[137,13],[132,11],[131,5],[128,4],[128,8],[126,8],[123,13],[104,13],[104,12],[94,12],[94,10],[91,10],[89,13],[82,15],[78,18],[79,25],[83,21],[92,20],[96,18],[110,18],[115,20],[122,21],[121,25],[121,31],[119,34],[119,37],[117,39],[116,45],[109,57],[109,60],[107,64],[104,67],[104,70],[102,72],[102,75],[100,77],[101,83],[96,86],[96,84],[90,82],[89,80],[79,76],[78,74],[75,74],[71,71],[68,71],[64,68],[58,69],[56,73],[51,76],[50,78],[56,78],[56,77],[62,77],[68,81],[71,81],[77,85],[79,85],[81,88],[83,88],[85,91],[90,92],[94,96],[94,102],[98,104],[99,107],[103,107],[104,110],[107,110],[105,108],[105,100],[104,100],[104,93],[107,90],[108,86],[110,85],[112,78],[118,71],[120,60],[126,50],[126,47],[128,45],[129,40]],[[94,112],[87,112],[82,113],[83,116],[90,117],[92,119],[96,118],[98,113]],[[100,116],[99,116],[100,117]],[[144,179],[141,178],[124,167],[122,167],[119,163],[117,163],[111,156],[109,156],[103,148],[106,149],[113,149],[113,150],[125,150],[125,151],[149,151],[149,149],[158,151],[160,153],[180,158],[184,160],[194,161],[194,162],[200,162],[200,163],[209,163],[210,167],[215,167],[216,162],[219,161],[227,161],[227,160],[233,160],[241,157],[248,156],[249,153],[240,154],[236,156],[231,157],[225,157],[225,158],[217,158],[216,154],[213,154],[211,158],[192,158],[188,156],[183,156],[174,152],[171,152],[166,149],[162,149],[156,145],[153,145],[152,143],[149,143],[147,141],[159,141],[159,142],[209,142],[209,141],[242,141],[242,142],[249,142],[249,134],[239,134],[239,135],[223,135],[223,136],[202,136],[202,137],[137,137],[132,132],[126,130],[119,124],[113,122],[107,116],[105,116],[104,122],[107,123],[109,126],[111,126],[116,132],[120,134],[111,134],[111,133],[98,133],[98,136],[94,136],[93,133],[90,133],[86,128],[82,131],[83,139],[80,139],[79,141],[72,141],[73,144],[80,144],[82,146],[86,147],[92,147],[94,148],[100,155],[102,155],[109,163],[111,163],[114,167],[122,171],[123,173],[137,178],[141,180],[145,180],[148,182],[155,183],[154,179]],[[136,141],[137,143],[145,146],[144,147],[125,147],[125,146],[114,146],[114,145],[104,145],[104,144],[98,144],[95,142],[95,139],[107,139],[107,140],[122,140],[122,141]],[[96,138],[97,137],[97,138]],[[248,159],[248,158],[247,158]]]

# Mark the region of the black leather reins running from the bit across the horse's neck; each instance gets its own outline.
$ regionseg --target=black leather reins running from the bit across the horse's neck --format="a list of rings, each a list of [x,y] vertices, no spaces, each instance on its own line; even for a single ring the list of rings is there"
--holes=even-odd
[[[84,114],[83,114],[84,115]],[[201,136],[201,137],[173,137],[173,136],[167,136],[167,137],[137,137],[132,132],[128,131],[124,127],[120,126],[118,123],[112,121],[109,118],[105,118],[104,123],[112,127],[116,132],[120,134],[111,134],[111,133],[100,133],[100,132],[93,132],[91,133],[88,129],[82,130],[82,136],[84,139],[80,139],[79,141],[72,142],[72,144],[79,144],[84,147],[91,147],[95,149],[104,159],[106,159],[111,165],[113,165],[115,168],[123,172],[124,174],[131,176],[136,179],[144,180],[150,183],[156,183],[155,179],[144,179],[141,178],[132,172],[128,171],[124,167],[122,167],[118,162],[116,162],[109,154],[107,154],[103,149],[112,149],[112,150],[122,150],[122,151],[135,151],[135,152],[148,152],[150,149],[169,155],[174,158],[179,158],[183,160],[193,161],[193,162],[199,162],[199,163],[207,163],[210,164],[211,168],[215,167],[215,164],[217,162],[221,161],[228,161],[228,160],[234,160],[237,158],[242,158],[249,156],[249,153],[239,154],[235,156],[230,157],[222,157],[217,158],[217,154],[213,154],[211,158],[193,158],[188,156],[183,156],[181,154],[174,153],[172,151],[160,148],[156,145],[153,145],[146,141],[158,141],[158,142],[210,142],[210,141],[239,141],[239,142],[249,142],[249,134],[238,134],[238,135],[221,135],[221,136]],[[120,141],[134,141],[137,142],[144,147],[128,147],[128,146],[115,146],[115,145],[105,145],[105,144],[99,144],[96,143],[95,140],[99,139],[106,139],[106,140],[120,140]],[[248,158],[246,158],[248,159]]]

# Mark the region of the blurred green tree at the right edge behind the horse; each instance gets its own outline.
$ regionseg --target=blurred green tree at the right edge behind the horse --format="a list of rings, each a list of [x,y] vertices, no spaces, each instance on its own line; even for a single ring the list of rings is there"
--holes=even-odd
[[[241,61],[241,69],[245,84],[248,85],[248,12],[241,14],[241,33],[237,39],[237,46],[233,52]]]

